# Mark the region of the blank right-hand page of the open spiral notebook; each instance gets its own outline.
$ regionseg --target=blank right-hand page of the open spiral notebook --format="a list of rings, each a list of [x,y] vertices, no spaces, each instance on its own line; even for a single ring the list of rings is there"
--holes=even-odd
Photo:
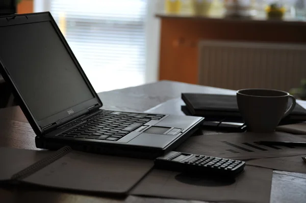
[[[23,181],[71,190],[126,193],[153,165],[152,160],[72,151]]]

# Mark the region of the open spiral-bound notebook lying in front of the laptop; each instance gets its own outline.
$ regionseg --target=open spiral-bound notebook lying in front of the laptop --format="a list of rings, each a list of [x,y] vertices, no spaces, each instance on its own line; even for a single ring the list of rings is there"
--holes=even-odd
[[[151,160],[72,151],[0,148],[0,182],[72,191],[127,193],[153,167]]]

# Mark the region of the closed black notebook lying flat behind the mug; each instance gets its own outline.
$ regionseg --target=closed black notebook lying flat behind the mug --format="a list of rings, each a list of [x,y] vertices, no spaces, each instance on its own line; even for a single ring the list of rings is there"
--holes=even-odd
[[[192,115],[200,117],[241,118],[236,95],[182,93],[182,99]],[[291,103],[288,102],[288,107]],[[306,120],[306,109],[296,104],[286,120]]]

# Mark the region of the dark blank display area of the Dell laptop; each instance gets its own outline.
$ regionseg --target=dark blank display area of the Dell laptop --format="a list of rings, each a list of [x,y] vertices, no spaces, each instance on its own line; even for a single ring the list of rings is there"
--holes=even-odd
[[[49,21],[0,27],[0,60],[38,121],[94,98]]]

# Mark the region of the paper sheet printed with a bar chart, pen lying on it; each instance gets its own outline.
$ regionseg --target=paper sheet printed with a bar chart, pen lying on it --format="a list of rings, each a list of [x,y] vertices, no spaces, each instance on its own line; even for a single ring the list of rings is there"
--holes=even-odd
[[[286,157],[306,154],[306,148],[262,146],[256,141],[306,141],[305,138],[283,132],[274,133],[224,133],[189,137],[178,152],[232,159]]]

